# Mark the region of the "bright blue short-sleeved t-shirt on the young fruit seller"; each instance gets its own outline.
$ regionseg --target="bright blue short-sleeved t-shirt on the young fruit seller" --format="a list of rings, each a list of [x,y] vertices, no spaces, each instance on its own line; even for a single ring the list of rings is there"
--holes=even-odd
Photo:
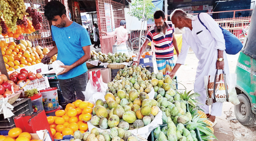
[[[57,28],[52,25],[52,37],[58,48],[57,60],[68,66],[84,56],[82,47],[91,45],[88,32],[76,22],[66,28]],[[58,75],[58,78],[73,78],[87,72],[87,70],[86,63],[83,63],[63,75]]]

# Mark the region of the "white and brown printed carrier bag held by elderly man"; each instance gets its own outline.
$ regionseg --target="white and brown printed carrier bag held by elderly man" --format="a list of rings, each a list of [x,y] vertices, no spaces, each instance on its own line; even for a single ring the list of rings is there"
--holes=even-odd
[[[234,105],[239,104],[236,94],[237,74],[223,74],[204,76],[204,85],[206,89],[207,100],[206,105],[215,102],[231,102]]]

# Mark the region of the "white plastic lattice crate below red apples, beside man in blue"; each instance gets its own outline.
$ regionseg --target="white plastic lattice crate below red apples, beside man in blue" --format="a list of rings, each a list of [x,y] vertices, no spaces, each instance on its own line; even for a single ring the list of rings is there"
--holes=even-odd
[[[27,84],[27,85],[26,85]],[[23,83],[19,83],[17,84],[19,85],[20,87],[23,87],[25,86],[23,89],[24,91],[26,90],[31,90],[33,88],[36,88],[37,90],[43,90],[43,89],[46,89],[46,88],[49,88],[50,85],[49,85],[49,82],[48,82],[48,78],[45,76],[43,78],[40,78],[40,79],[37,79],[37,80],[33,80],[33,81],[29,81],[29,82],[23,82]]]

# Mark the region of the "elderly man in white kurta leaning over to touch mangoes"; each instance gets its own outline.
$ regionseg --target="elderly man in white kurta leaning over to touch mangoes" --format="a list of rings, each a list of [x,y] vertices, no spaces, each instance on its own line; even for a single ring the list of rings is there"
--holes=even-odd
[[[218,74],[222,73],[223,69],[225,73],[229,73],[225,39],[219,25],[211,16],[201,13],[199,17],[208,30],[201,24],[198,16],[193,17],[186,14],[183,10],[174,10],[171,14],[172,23],[176,28],[183,29],[185,27],[182,35],[181,53],[171,72],[171,77],[174,76],[181,65],[184,65],[190,46],[199,59],[194,91],[200,94],[198,100],[204,104],[200,108],[204,110],[209,120],[215,125],[215,116],[222,115],[223,103],[213,103],[210,114],[209,106],[205,105],[207,96],[204,86],[204,76],[215,75],[216,69],[219,70]]]

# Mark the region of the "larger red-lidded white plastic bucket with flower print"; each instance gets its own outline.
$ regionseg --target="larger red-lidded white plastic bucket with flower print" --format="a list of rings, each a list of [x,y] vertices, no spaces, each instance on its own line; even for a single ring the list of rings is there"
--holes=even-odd
[[[41,90],[45,111],[52,111],[59,108],[57,87]]]

